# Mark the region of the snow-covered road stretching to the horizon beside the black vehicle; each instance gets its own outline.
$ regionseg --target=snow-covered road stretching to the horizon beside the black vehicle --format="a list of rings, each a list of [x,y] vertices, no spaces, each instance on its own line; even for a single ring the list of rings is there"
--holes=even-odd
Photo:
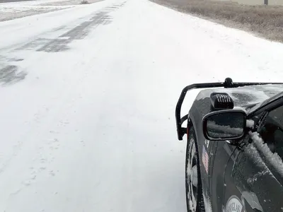
[[[181,89],[283,75],[282,44],[146,0],[8,20],[0,36],[6,212],[185,211]]]

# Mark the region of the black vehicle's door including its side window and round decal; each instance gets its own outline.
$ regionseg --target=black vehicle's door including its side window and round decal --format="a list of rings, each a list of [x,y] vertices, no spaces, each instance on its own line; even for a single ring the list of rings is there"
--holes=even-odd
[[[238,147],[225,144],[231,157],[225,170],[223,211],[283,211],[282,101],[252,119],[254,131]]]

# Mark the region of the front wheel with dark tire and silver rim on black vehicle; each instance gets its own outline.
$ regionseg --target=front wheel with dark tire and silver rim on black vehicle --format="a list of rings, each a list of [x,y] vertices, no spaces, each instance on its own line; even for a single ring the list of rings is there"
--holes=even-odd
[[[187,151],[185,160],[185,188],[187,211],[205,212],[202,196],[202,179],[200,177],[200,159],[197,149],[195,129],[190,126],[187,136]]]

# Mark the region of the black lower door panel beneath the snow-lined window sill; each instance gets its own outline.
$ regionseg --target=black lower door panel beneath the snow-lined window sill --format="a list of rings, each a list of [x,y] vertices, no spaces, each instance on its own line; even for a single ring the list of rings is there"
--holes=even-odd
[[[275,178],[255,143],[248,143],[241,150],[235,148],[226,166],[224,206],[236,195],[246,212],[282,211],[282,184]]]

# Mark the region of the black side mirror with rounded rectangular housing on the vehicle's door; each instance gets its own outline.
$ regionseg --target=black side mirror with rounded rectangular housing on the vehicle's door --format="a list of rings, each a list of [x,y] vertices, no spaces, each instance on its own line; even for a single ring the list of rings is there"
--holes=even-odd
[[[243,110],[210,112],[202,119],[202,130],[205,139],[224,141],[243,138],[246,117],[246,112]]]

